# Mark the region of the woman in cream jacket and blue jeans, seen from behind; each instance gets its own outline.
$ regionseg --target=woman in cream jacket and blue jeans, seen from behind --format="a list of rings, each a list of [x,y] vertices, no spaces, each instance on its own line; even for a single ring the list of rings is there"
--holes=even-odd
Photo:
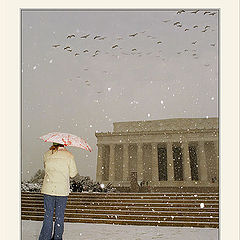
[[[64,212],[70,192],[69,177],[77,175],[73,155],[62,144],[53,143],[44,154],[45,176],[41,193],[44,199],[44,220],[39,240],[62,239],[64,231]],[[55,224],[53,230],[53,213]]]

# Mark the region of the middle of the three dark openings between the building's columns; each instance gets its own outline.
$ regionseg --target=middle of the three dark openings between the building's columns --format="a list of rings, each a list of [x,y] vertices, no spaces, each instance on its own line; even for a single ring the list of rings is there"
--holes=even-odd
[[[182,165],[182,149],[181,147],[173,147],[173,163],[174,163],[174,179],[175,181],[183,181],[183,165]]]

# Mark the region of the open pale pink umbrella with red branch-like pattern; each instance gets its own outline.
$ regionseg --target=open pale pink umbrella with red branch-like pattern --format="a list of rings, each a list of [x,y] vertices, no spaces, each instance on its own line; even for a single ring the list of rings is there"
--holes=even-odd
[[[42,139],[44,142],[55,142],[63,144],[65,146],[80,147],[90,152],[92,151],[91,147],[87,144],[85,140],[69,133],[48,133],[44,136],[41,136],[40,139]]]

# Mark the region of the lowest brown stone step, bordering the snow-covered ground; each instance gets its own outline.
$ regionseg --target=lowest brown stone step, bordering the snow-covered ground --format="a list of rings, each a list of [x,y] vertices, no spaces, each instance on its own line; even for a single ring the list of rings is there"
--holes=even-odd
[[[22,220],[43,221],[42,216],[22,215]],[[173,227],[207,227],[218,228],[218,222],[182,222],[182,221],[145,221],[145,220],[118,220],[118,219],[86,219],[64,218],[65,222],[73,223],[102,223],[116,225],[148,225],[148,226],[173,226]]]

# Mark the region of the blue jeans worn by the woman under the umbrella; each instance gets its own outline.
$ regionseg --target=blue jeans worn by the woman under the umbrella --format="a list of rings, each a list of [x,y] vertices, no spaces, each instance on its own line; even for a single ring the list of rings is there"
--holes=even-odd
[[[51,196],[44,194],[44,220],[38,240],[62,240],[64,231],[64,211],[67,205],[67,196]],[[55,224],[53,230],[53,213],[55,208]]]

